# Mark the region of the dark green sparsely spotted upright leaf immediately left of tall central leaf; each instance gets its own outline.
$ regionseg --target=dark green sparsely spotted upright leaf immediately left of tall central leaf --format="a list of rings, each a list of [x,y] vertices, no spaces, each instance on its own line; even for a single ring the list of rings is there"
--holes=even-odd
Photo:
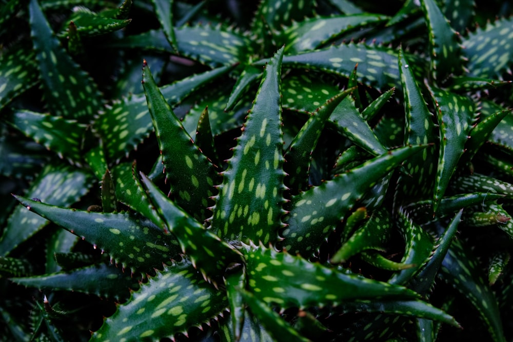
[[[173,113],[146,64],[143,86],[176,204],[203,220],[209,216],[206,208],[211,205],[209,197],[214,194],[215,170]]]

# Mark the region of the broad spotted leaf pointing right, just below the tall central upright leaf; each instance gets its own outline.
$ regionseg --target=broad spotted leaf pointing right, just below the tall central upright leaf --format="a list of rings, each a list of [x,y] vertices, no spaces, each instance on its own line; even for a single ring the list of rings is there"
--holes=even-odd
[[[257,298],[281,308],[341,305],[356,299],[413,299],[417,293],[346,274],[300,256],[263,247],[246,253],[248,284]]]

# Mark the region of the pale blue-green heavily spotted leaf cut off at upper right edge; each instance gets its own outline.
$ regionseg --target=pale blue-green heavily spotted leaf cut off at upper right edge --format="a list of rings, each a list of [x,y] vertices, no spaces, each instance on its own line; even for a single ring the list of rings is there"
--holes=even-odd
[[[511,68],[513,46],[513,19],[503,18],[488,23],[484,29],[469,33],[464,38],[463,53],[468,58],[468,76],[497,78]]]

